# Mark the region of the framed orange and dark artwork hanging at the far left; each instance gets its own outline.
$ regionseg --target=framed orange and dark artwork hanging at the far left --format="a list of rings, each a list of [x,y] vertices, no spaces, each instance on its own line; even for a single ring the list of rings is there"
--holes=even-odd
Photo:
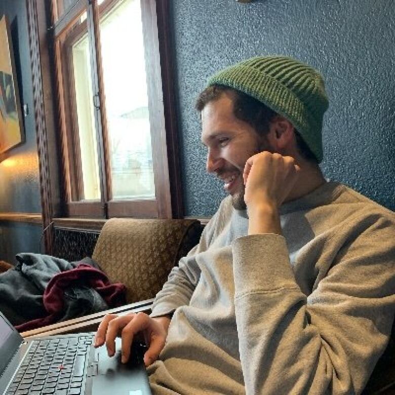
[[[14,53],[6,16],[0,20],[0,154],[24,142]]]

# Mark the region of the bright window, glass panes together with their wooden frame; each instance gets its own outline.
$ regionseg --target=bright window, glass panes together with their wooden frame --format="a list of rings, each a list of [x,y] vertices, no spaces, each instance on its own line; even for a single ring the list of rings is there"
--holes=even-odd
[[[66,216],[177,216],[157,3],[53,0]]]

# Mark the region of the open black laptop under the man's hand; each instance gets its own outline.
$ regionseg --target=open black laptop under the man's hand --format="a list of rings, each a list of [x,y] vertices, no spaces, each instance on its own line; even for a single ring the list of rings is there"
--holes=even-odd
[[[0,312],[0,394],[151,395],[143,363],[145,345],[133,343],[130,362],[94,348],[94,333],[24,340]]]

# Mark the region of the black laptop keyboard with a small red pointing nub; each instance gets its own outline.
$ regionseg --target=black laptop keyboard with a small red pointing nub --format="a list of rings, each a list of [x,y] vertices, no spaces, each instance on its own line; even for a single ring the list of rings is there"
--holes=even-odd
[[[79,335],[34,341],[6,395],[82,394],[92,340],[91,335]]]

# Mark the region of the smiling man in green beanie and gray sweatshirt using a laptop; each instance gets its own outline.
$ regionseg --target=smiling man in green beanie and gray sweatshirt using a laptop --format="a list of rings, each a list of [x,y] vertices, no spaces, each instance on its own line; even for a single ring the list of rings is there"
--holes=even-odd
[[[108,315],[124,359],[141,332],[154,393],[360,393],[388,342],[395,218],[327,182],[321,75],[257,57],[198,98],[207,171],[230,196],[173,268],[150,317]]]

